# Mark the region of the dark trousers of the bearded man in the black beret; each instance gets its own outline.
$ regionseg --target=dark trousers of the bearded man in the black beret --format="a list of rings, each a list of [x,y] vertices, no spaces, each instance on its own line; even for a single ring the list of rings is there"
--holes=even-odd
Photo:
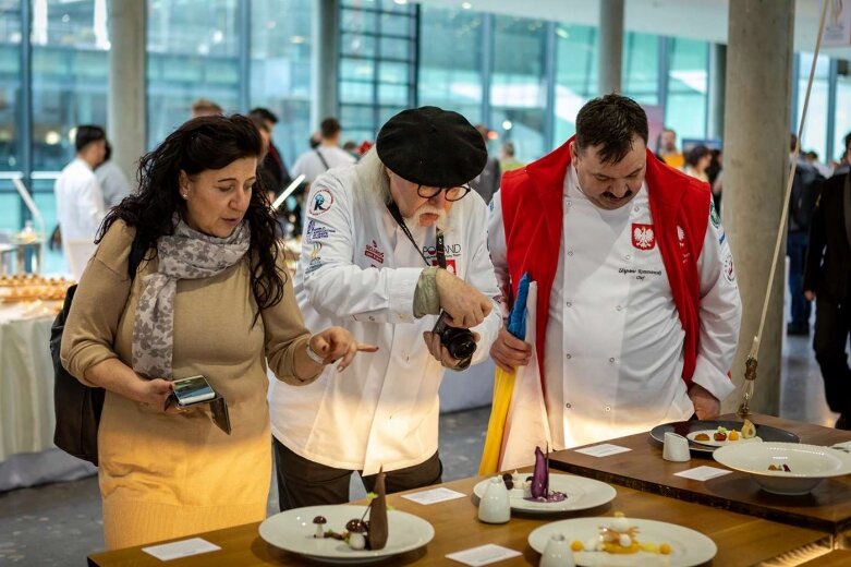
[[[354,471],[319,465],[291,451],[278,439],[272,443],[281,511],[349,502],[349,479]],[[361,471],[357,473],[364,481],[366,492],[373,492],[377,475],[364,476]],[[385,488],[387,494],[391,494],[440,484],[442,474],[443,465],[435,453],[420,465],[385,472]]]

